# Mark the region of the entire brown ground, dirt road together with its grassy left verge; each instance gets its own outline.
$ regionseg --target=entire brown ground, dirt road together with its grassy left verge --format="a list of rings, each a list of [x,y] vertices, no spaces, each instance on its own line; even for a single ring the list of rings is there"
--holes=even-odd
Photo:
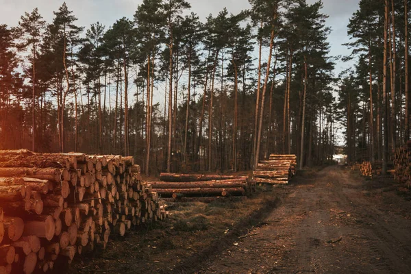
[[[411,192],[328,166],[244,201],[171,205],[69,273],[411,273]]]

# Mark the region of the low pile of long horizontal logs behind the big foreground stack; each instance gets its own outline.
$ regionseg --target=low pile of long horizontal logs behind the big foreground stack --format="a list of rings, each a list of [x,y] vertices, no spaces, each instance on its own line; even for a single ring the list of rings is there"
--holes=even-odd
[[[256,190],[256,184],[245,176],[161,173],[160,180],[149,184],[165,201],[243,199]]]

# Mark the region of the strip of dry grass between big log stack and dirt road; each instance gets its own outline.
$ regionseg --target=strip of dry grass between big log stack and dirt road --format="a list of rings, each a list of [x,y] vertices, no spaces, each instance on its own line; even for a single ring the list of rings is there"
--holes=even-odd
[[[276,188],[257,188],[242,201],[171,203],[169,219],[142,225],[111,241],[107,249],[76,259],[68,273],[173,273],[230,232],[258,225],[250,216],[276,199]]]

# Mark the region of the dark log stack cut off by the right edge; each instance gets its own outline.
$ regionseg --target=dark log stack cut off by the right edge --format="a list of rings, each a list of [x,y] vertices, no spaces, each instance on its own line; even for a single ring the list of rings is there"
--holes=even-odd
[[[397,182],[411,187],[411,141],[394,151],[394,178]]]

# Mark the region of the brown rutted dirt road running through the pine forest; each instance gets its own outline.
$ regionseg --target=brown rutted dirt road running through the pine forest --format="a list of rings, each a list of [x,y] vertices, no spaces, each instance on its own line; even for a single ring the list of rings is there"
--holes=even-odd
[[[297,177],[278,208],[199,273],[411,273],[410,202],[366,184],[341,166]]]

